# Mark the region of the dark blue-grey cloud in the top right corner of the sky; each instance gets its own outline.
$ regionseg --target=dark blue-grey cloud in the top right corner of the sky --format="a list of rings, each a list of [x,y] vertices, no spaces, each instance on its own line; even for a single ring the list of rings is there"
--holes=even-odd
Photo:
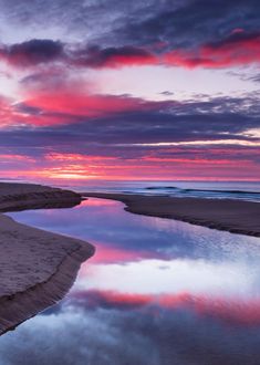
[[[194,48],[221,41],[237,29],[259,30],[257,0],[191,0],[173,8],[170,1],[155,8],[146,18],[129,19],[121,36],[138,44],[165,42],[170,48]]]

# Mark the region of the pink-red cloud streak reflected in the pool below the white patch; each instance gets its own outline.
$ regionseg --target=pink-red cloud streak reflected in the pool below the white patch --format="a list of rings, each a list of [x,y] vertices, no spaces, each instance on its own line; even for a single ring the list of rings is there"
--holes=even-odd
[[[204,317],[217,319],[228,325],[259,326],[260,306],[258,300],[227,300],[225,298],[207,298],[188,292],[177,294],[139,294],[116,291],[77,291],[71,294],[69,303],[89,310],[96,307],[107,310],[145,309],[152,315],[157,310],[167,309],[171,315],[176,310],[188,310]]]

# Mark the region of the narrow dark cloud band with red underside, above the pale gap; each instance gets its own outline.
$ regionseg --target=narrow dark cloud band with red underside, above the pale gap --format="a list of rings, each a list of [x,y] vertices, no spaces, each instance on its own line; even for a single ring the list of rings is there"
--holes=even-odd
[[[74,67],[124,67],[133,65],[167,65],[181,67],[222,69],[260,62],[260,33],[232,32],[216,42],[197,48],[176,48],[155,52],[133,45],[100,48],[70,46],[60,41],[31,40],[20,44],[2,45],[1,60],[17,67],[60,63]],[[40,80],[38,74],[38,81]],[[27,77],[27,80],[30,80]]]

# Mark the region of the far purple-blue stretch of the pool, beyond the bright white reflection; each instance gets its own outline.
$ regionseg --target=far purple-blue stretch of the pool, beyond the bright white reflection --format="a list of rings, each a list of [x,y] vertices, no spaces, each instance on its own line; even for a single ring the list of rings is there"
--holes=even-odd
[[[98,254],[101,260],[105,260],[104,253],[112,249],[118,261],[134,261],[139,257],[163,260],[202,258],[215,262],[225,260],[258,265],[258,238],[132,215],[123,207],[117,201],[91,198],[70,210],[24,211],[11,216],[24,223],[89,240],[96,244],[96,257]]]

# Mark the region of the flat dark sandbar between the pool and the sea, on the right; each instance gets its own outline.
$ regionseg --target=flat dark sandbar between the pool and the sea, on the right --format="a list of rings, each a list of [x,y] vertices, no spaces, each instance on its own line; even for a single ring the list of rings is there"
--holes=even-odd
[[[106,192],[82,192],[82,196],[119,200],[126,205],[125,210],[137,215],[170,218],[232,233],[260,237],[259,202]]]

